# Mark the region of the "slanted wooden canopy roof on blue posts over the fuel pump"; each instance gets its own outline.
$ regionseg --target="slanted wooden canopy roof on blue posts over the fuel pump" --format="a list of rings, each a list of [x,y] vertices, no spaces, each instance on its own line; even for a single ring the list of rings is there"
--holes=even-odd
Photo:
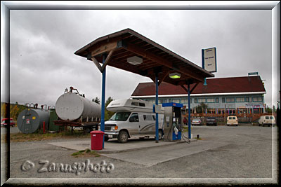
[[[155,73],[157,73],[159,83],[164,81],[173,85],[186,85],[203,82],[207,77],[214,77],[209,71],[132,29],[124,29],[100,37],[74,54],[93,60],[100,71],[103,71],[105,66],[102,67],[99,63],[103,62],[103,55],[107,55],[105,65],[150,77],[152,81],[155,81]],[[130,57],[133,57],[134,62],[129,63]],[[169,74],[173,73],[180,78],[170,78]]]

